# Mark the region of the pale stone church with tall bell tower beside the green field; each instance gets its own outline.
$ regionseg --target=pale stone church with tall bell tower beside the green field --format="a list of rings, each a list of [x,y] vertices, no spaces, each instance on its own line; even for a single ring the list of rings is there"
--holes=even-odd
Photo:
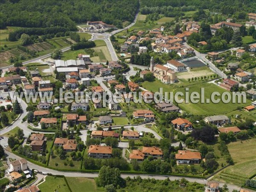
[[[154,65],[153,57],[151,57],[150,60],[150,71],[158,80],[162,81],[165,84],[175,83],[175,81],[177,80],[175,71],[170,70],[168,67],[160,64]]]

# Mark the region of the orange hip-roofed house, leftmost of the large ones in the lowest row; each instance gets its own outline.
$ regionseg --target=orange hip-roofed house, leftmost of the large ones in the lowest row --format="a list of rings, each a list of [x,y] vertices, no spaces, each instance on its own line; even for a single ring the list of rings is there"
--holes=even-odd
[[[112,156],[112,147],[101,145],[90,145],[88,149],[89,157],[110,158]]]

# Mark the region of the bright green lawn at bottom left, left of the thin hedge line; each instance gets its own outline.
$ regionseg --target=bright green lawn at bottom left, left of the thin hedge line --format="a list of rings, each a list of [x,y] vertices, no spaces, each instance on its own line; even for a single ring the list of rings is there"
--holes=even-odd
[[[52,191],[57,190],[58,192],[70,192],[67,183],[62,177],[47,176],[45,182],[38,185],[38,188],[41,192],[49,192],[49,189]]]

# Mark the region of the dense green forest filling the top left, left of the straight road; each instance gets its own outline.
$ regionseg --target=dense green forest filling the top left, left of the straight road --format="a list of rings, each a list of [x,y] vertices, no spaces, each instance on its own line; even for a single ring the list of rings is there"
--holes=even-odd
[[[1,0],[0,28],[6,26],[52,27],[76,30],[76,23],[102,20],[119,28],[132,22],[138,0]]]

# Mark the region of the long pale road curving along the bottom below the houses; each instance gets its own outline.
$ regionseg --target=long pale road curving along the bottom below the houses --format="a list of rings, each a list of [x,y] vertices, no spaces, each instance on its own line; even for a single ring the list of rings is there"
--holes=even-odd
[[[12,154],[8,151],[5,151],[6,154],[8,155],[8,157],[11,157],[13,159],[20,159],[19,156]],[[81,172],[61,172],[61,171],[56,171],[56,170],[52,170],[49,168],[44,168],[38,165],[35,165],[34,163],[30,163],[28,162],[28,166],[30,169],[36,169],[40,172],[44,172],[44,173],[51,173],[53,175],[64,175],[66,177],[98,177],[98,173],[81,173]],[[121,174],[121,177],[126,178],[126,177],[137,177],[140,176],[141,178],[145,179],[145,178],[154,178],[157,180],[165,180],[167,177],[169,177],[170,180],[179,180],[180,178],[186,178],[186,180],[188,180],[189,182],[197,182],[197,183],[201,183],[201,184],[205,184],[207,182],[207,180],[204,179],[199,179],[199,178],[190,178],[190,177],[177,177],[177,176],[169,176],[169,175],[144,175],[144,174]],[[223,186],[225,183],[220,183],[220,186]],[[235,185],[230,185],[227,184],[228,189],[230,189],[230,191],[233,191],[233,189],[239,190],[238,186]]]

